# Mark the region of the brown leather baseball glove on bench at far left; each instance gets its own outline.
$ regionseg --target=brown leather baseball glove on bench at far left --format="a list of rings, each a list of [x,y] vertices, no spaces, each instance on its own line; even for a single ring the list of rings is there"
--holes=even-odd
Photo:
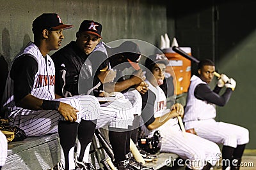
[[[19,129],[19,127],[9,125],[8,119],[0,119],[0,130],[6,136],[8,142],[22,141],[27,138],[25,132]]]

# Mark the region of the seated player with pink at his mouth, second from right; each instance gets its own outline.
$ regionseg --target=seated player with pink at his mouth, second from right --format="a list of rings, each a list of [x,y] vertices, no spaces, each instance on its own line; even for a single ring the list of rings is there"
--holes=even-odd
[[[150,55],[145,60],[148,69],[145,81],[149,86],[148,92],[142,95],[144,132],[150,137],[156,130],[160,131],[163,137],[160,152],[176,153],[186,159],[186,169],[210,169],[218,159],[218,145],[187,132],[185,137],[177,120],[183,116],[183,106],[177,103],[171,109],[166,108],[166,96],[159,85],[163,84],[167,64],[164,55]]]

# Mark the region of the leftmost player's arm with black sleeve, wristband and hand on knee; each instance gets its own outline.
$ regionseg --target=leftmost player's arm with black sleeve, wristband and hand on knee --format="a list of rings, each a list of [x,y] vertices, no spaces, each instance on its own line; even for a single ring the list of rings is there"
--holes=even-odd
[[[28,110],[58,110],[66,120],[76,120],[76,109],[59,101],[39,99],[31,94],[35,74],[38,71],[37,61],[22,55],[13,62],[10,76],[14,81],[13,97],[16,106]]]

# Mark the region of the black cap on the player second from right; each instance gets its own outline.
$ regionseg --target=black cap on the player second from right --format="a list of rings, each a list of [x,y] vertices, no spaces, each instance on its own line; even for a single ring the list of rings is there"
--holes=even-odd
[[[169,60],[163,53],[162,54],[157,53],[157,54],[150,55],[147,57],[147,59],[145,60],[145,67],[147,67],[148,69],[151,70],[151,68],[154,66],[154,64],[157,64],[157,63],[162,63],[165,66],[170,65]]]

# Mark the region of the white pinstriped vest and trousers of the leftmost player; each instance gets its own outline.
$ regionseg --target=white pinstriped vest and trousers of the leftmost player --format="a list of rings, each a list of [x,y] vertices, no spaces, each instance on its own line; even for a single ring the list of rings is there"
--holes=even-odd
[[[93,96],[76,96],[61,99],[55,99],[54,94],[54,63],[47,55],[47,63],[33,43],[24,49],[24,52],[17,55],[19,57],[23,53],[29,53],[38,62],[38,72],[35,74],[35,81],[31,94],[40,99],[56,100],[70,104],[79,112],[77,112],[77,121],[95,120],[99,117],[99,101]],[[15,57],[15,59],[17,59]],[[15,60],[14,59],[14,60]],[[13,60],[13,61],[14,61]],[[3,106],[8,112],[10,124],[20,127],[28,136],[41,136],[58,132],[58,121],[65,120],[56,110],[26,110],[15,106],[13,100],[13,80],[8,74],[6,89],[4,91]]]

